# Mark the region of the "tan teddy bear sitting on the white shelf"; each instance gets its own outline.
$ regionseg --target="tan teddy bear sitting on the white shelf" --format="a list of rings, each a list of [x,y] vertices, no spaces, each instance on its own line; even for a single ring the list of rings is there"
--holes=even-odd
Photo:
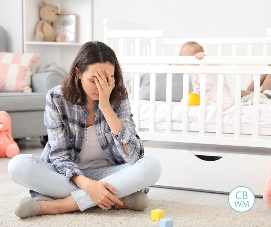
[[[65,34],[61,33],[56,36],[56,31],[54,29],[55,22],[59,18],[57,12],[58,8],[54,5],[46,4],[44,1],[42,1],[40,5],[39,17],[41,20],[36,26],[36,41],[64,42],[66,39]]]

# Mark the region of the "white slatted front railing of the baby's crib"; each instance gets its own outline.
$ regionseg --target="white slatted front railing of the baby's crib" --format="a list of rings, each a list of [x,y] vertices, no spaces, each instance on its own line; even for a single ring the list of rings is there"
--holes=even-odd
[[[170,142],[186,142],[186,143],[203,143],[203,144],[221,144],[221,145],[236,145],[236,146],[251,146],[251,147],[271,147],[270,138],[259,139],[259,135],[271,135],[271,128],[263,129],[259,133],[259,93],[260,93],[260,74],[271,74],[271,67],[266,64],[271,62],[270,56],[250,56],[250,57],[205,57],[203,60],[197,60],[194,57],[135,57],[125,56],[118,57],[122,67],[123,73],[133,73],[134,84],[133,88],[133,120],[135,121],[136,130],[141,139],[154,141],[170,141]],[[207,66],[187,66],[187,65],[165,65],[168,63],[179,64],[220,64]],[[235,65],[225,65],[235,64]],[[245,64],[245,65],[244,65]],[[249,64],[249,65],[247,65]],[[256,65],[257,64],[257,65]],[[139,116],[139,88],[140,88],[140,73],[150,73],[150,112],[148,132],[140,129]],[[166,73],[166,118],[165,130],[163,133],[157,133],[155,128],[155,83],[156,73]],[[179,123],[179,128],[172,131],[171,122],[171,103],[172,103],[172,73],[183,73],[183,101],[182,101],[182,123]],[[200,73],[200,119],[198,124],[188,123],[188,94],[189,94],[189,73]],[[213,136],[206,136],[205,124],[205,86],[206,74],[218,74],[218,91],[217,91],[217,119],[215,138]],[[223,126],[223,74],[232,74],[235,86],[235,113],[234,113],[234,128],[230,130],[233,138],[223,137],[225,132]],[[241,126],[241,75],[254,75],[254,98],[253,98],[253,123],[252,130],[246,132],[251,134],[252,139],[240,138],[240,134],[244,130],[251,128],[251,126]],[[195,125],[197,127],[195,127]],[[190,127],[191,126],[191,127]],[[189,135],[190,128],[197,128],[198,135]],[[194,129],[195,130],[195,129]],[[181,132],[180,135],[176,131]],[[229,133],[229,131],[227,131]],[[264,132],[264,133],[262,133]]]

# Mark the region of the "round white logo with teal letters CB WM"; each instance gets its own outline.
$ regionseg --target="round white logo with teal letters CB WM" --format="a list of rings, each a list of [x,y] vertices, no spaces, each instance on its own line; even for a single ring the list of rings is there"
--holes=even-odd
[[[246,212],[253,207],[255,195],[250,188],[238,186],[229,193],[228,201],[230,207],[235,211]]]

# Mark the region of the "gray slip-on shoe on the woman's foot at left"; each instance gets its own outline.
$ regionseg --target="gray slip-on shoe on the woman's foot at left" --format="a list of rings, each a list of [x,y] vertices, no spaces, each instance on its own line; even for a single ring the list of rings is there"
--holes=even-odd
[[[36,200],[54,200],[55,198],[40,195],[35,198],[31,197],[24,197],[22,198],[15,210],[15,215],[17,217],[25,218],[25,217],[31,217],[37,213],[39,213],[40,205]]]

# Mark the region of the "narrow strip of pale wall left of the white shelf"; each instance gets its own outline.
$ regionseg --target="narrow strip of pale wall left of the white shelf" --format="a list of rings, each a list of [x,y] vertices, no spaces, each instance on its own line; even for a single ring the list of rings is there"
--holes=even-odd
[[[0,25],[5,30],[7,52],[22,53],[22,0],[0,0]]]

